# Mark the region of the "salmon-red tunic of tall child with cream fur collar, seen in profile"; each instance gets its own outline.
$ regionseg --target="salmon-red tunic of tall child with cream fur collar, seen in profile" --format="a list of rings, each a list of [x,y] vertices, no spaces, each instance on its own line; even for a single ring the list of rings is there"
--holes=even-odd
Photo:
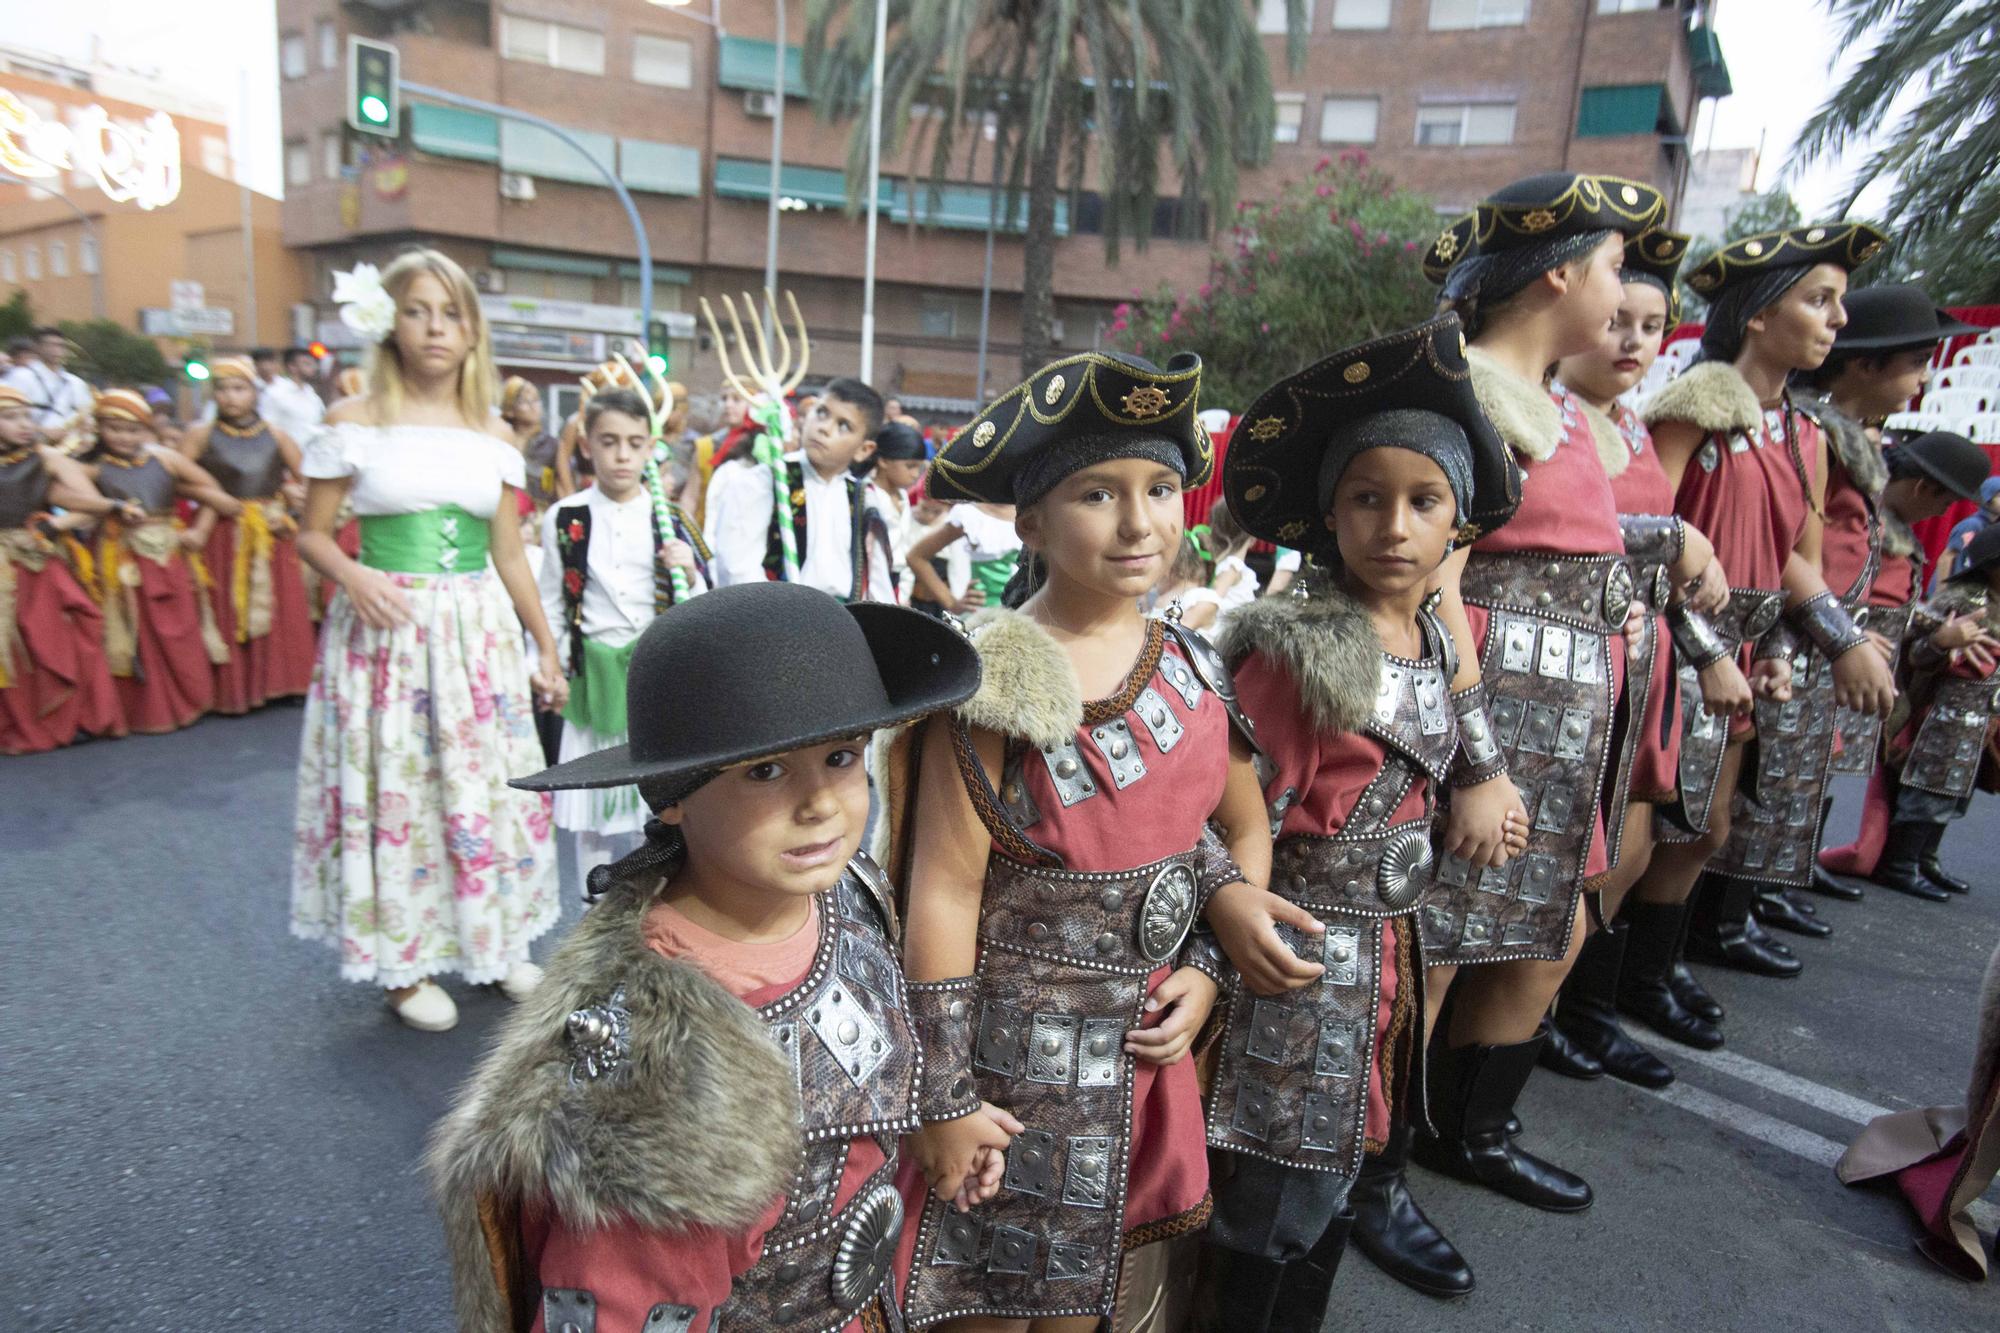
[[[1520,462],[1520,508],[1498,532],[1472,542],[1472,558],[1482,550],[1548,550],[1552,554],[1624,554],[1624,532],[1618,530],[1618,500],[1612,498],[1612,482],[1604,474],[1598,458],[1598,444],[1590,434],[1590,422],[1570,390],[1560,384],[1550,392],[1562,412],[1562,438],[1556,452],[1544,460],[1514,454]],[[1472,638],[1486,654],[1488,614],[1484,606],[1466,602],[1466,620],[1472,624]],[[1624,691],[1624,634],[1610,636],[1612,699]],[[1496,689],[1494,681],[1486,689]],[[1604,807],[1598,803],[1596,825],[1590,835],[1590,853],[1584,861],[1584,877],[1602,875],[1610,869],[1604,847]]]

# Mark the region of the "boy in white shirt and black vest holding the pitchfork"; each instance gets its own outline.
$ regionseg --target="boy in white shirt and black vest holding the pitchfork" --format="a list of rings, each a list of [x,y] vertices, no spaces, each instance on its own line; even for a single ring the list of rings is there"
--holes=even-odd
[[[852,464],[874,452],[882,396],[852,378],[830,382],[800,420],[802,448],[784,456],[798,582],[846,602],[894,602],[886,520]],[[766,464],[716,472],[708,542],[716,584],[784,578],[784,536]]]

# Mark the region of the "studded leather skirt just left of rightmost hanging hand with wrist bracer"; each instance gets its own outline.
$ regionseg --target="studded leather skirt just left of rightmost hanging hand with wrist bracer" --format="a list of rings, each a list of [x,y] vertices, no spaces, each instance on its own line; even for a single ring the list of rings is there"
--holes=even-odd
[[[1834,757],[1832,662],[1810,648],[1792,654],[1792,699],[1758,699],[1754,717],[1756,745],[1730,805],[1730,837],[1710,867],[1804,889],[1820,851],[1820,797]]]

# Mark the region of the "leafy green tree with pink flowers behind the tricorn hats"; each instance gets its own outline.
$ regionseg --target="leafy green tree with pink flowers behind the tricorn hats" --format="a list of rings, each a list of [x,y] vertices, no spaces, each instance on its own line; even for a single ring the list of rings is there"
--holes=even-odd
[[[1268,202],[1236,206],[1208,278],[1192,292],[1134,292],[1110,324],[1116,346],[1166,360],[1202,354],[1202,402],[1242,410],[1300,366],[1406,328],[1436,306],[1420,260],[1436,208],[1348,148]]]

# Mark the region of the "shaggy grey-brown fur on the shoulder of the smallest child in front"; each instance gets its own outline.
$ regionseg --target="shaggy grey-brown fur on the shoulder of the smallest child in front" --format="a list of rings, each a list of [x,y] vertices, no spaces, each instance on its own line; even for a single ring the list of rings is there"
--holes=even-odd
[[[452,1251],[460,1329],[510,1329],[490,1213],[522,1203],[572,1227],[632,1219],[740,1231],[798,1169],[790,1061],[754,1009],[642,937],[650,885],[620,883],[584,915],[534,995],[432,1131],[424,1155]],[[628,1069],[570,1085],[568,1019],[624,987]]]

